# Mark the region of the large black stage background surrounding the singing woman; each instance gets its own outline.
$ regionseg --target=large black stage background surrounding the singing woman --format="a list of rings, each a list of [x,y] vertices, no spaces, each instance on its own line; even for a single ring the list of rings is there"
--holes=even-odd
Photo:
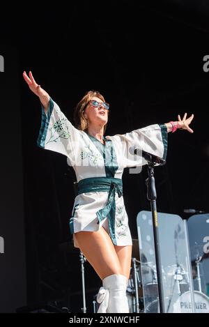
[[[182,217],[184,208],[208,212],[209,73],[203,71],[203,56],[209,54],[209,4],[70,1],[48,8],[33,3],[18,15],[15,8],[1,15],[1,44],[13,45],[19,54],[27,301],[81,312],[79,252],[70,245],[68,227],[74,176],[63,155],[36,146],[40,103],[22,72],[32,70],[70,121],[84,92],[100,91],[111,104],[106,135],[193,113],[194,134],[170,133],[167,165],[155,169],[157,208]],[[150,209],[146,176],[146,166],[141,174],[128,169],[123,174],[133,238],[137,213]],[[88,263],[85,268],[91,312],[100,280]]]

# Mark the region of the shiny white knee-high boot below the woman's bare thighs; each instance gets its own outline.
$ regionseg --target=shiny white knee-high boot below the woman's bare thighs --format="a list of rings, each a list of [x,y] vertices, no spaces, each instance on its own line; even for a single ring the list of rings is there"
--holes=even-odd
[[[102,280],[103,287],[97,296],[100,303],[98,313],[129,313],[127,302],[127,277],[124,275],[110,275]]]

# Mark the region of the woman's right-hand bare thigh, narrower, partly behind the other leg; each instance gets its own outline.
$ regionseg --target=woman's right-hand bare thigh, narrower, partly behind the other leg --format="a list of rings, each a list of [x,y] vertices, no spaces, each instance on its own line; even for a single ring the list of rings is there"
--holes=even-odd
[[[118,246],[114,245],[118,260],[121,264],[122,275],[125,275],[127,279],[130,277],[130,267],[132,259],[132,245]]]

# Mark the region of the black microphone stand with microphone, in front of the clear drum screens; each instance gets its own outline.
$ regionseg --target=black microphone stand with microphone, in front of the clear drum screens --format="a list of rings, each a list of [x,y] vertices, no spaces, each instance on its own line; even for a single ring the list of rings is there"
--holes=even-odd
[[[148,178],[146,179],[147,198],[150,201],[150,208],[153,217],[153,235],[154,235],[154,245],[155,245],[157,288],[159,294],[160,313],[164,313],[165,312],[164,292],[163,292],[163,279],[162,279],[162,264],[160,258],[160,238],[159,238],[158,221],[157,221],[157,205],[156,205],[157,193],[155,189],[154,166],[156,164],[164,165],[166,161],[146,151],[142,151],[142,156],[148,162]]]

